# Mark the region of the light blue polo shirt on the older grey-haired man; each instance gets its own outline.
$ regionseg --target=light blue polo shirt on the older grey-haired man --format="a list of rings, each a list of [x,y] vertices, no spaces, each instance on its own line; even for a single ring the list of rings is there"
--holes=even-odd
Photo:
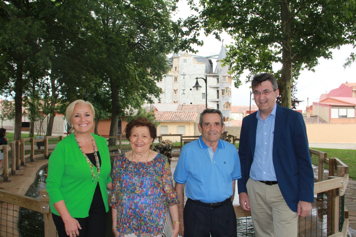
[[[200,136],[183,146],[173,178],[185,184],[185,195],[190,199],[204,203],[224,201],[232,195],[232,181],[241,178],[237,149],[219,139],[213,152]]]

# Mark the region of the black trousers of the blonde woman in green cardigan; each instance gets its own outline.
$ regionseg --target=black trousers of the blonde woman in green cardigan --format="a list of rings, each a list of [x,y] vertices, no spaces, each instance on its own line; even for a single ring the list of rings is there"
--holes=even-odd
[[[99,188],[99,184],[96,189]],[[85,218],[76,218],[82,230],[78,229],[79,237],[105,237],[106,224],[108,221],[108,213],[105,211],[105,205],[103,198],[99,194],[98,190],[95,190],[93,201],[91,201],[89,216]],[[101,200],[100,200],[101,199]],[[58,237],[68,237],[66,229],[64,228],[64,222],[61,216],[52,213],[54,225],[56,225]]]

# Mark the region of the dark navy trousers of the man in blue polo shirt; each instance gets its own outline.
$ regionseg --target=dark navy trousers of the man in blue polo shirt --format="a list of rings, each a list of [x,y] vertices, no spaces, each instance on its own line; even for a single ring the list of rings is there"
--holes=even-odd
[[[189,199],[184,207],[184,237],[236,237],[236,214],[232,202],[209,208]]]

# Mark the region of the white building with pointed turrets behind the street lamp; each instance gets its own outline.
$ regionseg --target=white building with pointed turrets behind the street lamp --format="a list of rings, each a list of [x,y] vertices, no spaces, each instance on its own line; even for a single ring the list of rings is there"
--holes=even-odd
[[[157,86],[162,88],[159,99],[152,98],[155,103],[178,104],[205,104],[208,98],[208,107],[220,109],[224,116],[226,126],[231,126],[231,75],[227,72],[228,66],[221,66],[221,60],[226,56],[225,47],[221,47],[216,59],[216,68],[213,71],[213,62],[208,57],[194,56],[187,53],[173,54],[169,59],[171,70],[164,75]],[[201,86],[195,90],[193,86],[196,77],[207,78],[207,95],[205,95],[205,82],[198,79]]]

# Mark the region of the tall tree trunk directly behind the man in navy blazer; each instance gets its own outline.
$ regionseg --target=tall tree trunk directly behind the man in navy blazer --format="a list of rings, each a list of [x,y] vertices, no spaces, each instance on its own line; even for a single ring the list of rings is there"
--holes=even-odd
[[[290,9],[289,0],[281,1],[281,22],[282,22],[282,75],[279,81],[279,93],[282,97],[282,106],[292,108],[292,52],[290,42],[292,41],[292,34],[290,31]]]

